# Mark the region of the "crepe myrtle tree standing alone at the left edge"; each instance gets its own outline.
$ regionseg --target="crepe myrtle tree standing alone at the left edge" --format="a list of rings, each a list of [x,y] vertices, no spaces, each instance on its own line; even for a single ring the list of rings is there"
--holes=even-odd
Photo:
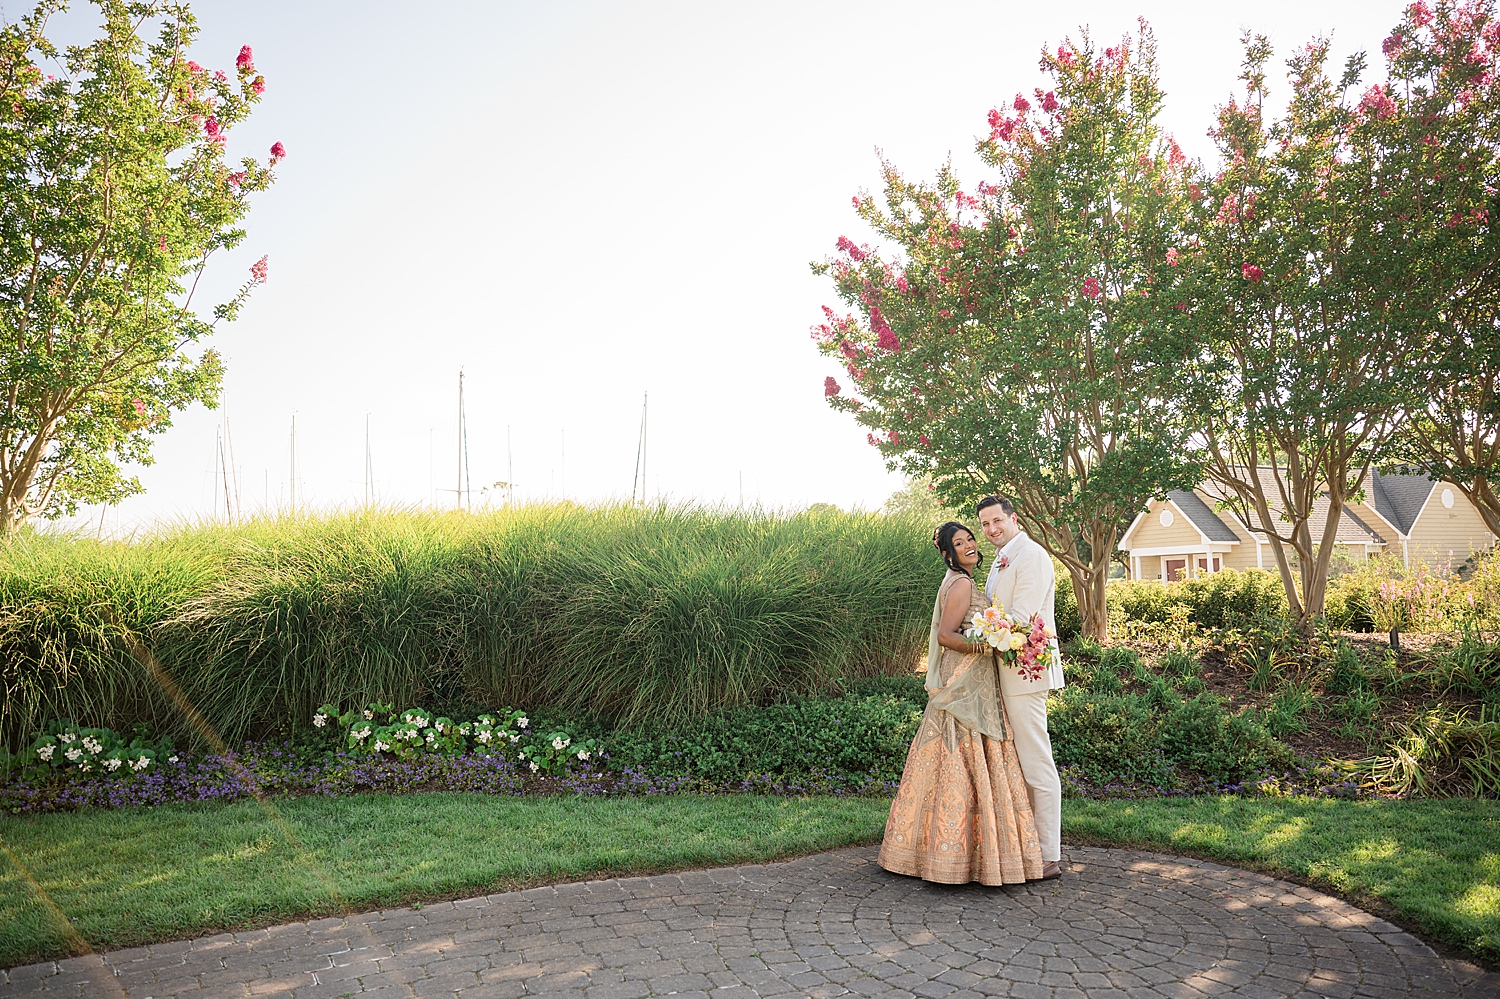
[[[98,8],[102,34],[66,51],[46,36],[60,0],[0,26],[0,537],[140,492],[120,464],[148,464],[172,412],[216,405],[219,356],[192,348],[266,279],[262,258],[212,318],[194,309],[285,156],[226,162],[266,88],[250,48],[210,70],[188,58],[186,6]]]

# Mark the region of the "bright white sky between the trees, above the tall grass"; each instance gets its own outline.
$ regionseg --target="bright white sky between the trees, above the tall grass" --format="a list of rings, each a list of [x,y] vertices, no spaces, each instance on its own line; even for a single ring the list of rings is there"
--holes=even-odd
[[[288,150],[207,290],[262,254],[270,282],[214,338],[226,405],[177,417],[105,531],[207,516],[225,417],[246,513],[286,501],[292,414],[298,506],[363,501],[366,417],[380,501],[452,506],[460,369],[476,506],[507,428],[518,501],[628,496],[650,392],[652,496],[878,507],[900,480],[824,405],[837,372],[807,334],[834,303],[807,264],[868,238],[849,200],[876,148],[920,177],[951,154],[972,186],[986,112],[1042,82],[1041,46],[1143,15],[1164,126],[1206,158],[1244,28],[1278,64],[1317,33],[1378,63],[1400,9],[200,2],[194,58],[232,69],[249,44],[268,81],[231,156]],[[60,36],[96,21],[78,4]]]

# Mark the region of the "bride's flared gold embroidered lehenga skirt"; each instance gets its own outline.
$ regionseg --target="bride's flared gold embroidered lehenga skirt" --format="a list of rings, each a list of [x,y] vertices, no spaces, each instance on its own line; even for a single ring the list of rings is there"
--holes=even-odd
[[[980,658],[944,651],[944,684]],[[885,820],[879,862],[891,873],[945,885],[1041,878],[1036,820],[1016,744],[928,706]]]

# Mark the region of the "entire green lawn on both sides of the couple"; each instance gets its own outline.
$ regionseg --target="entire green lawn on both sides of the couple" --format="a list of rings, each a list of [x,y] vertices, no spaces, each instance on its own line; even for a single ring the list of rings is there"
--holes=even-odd
[[[886,807],[436,794],[0,816],[0,968],[86,944],[870,843]],[[1064,836],[1288,873],[1500,962],[1496,801],[1070,800]]]

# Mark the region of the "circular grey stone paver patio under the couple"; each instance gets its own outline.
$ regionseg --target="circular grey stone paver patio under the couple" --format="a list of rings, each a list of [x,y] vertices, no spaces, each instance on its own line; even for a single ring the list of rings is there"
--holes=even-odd
[[[33,964],[0,998],[1500,996],[1500,975],[1272,878],[1094,848],[1066,870],[945,886],[846,849]]]

